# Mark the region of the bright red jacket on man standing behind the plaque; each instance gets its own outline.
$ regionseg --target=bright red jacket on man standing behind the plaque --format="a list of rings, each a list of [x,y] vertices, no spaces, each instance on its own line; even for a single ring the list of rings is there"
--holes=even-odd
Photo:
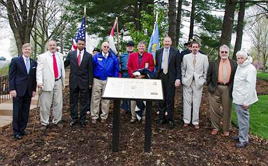
[[[139,53],[138,52],[129,54],[128,62],[127,62],[127,69],[128,69],[129,77],[134,78],[134,75],[132,73],[138,69],[145,68],[147,63],[148,63],[147,68],[151,72],[154,72],[154,59],[153,59],[153,55],[151,53],[145,52],[143,54],[141,64],[139,64]]]

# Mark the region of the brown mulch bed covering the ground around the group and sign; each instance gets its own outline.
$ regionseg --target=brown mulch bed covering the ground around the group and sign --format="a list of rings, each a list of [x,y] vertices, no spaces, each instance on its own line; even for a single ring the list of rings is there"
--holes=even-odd
[[[268,94],[268,82],[258,80],[258,94]],[[200,129],[182,127],[181,89],[176,90],[175,129],[156,125],[153,115],[151,153],[144,153],[142,123],[130,123],[129,114],[120,116],[120,152],[112,152],[112,107],[107,123],[94,125],[88,117],[85,128],[69,127],[69,89],[64,90],[63,129],[48,128],[41,136],[40,125],[32,132],[36,110],[30,111],[28,134],[22,140],[12,137],[12,125],[0,134],[0,165],[268,165],[268,142],[250,135],[245,149],[235,148],[235,142],[221,135],[212,136],[208,113],[207,88],[200,107]],[[153,112],[156,112],[156,103]],[[37,124],[40,124],[38,113]],[[267,131],[268,132],[268,131]],[[231,135],[238,130],[232,127]]]

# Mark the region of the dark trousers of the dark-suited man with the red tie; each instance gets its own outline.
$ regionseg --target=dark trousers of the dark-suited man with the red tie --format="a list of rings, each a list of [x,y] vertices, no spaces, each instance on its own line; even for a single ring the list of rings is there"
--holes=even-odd
[[[71,117],[73,121],[78,119],[78,100],[80,106],[80,122],[84,122],[87,111],[88,89],[87,87],[80,89],[70,88],[70,105],[71,105]]]

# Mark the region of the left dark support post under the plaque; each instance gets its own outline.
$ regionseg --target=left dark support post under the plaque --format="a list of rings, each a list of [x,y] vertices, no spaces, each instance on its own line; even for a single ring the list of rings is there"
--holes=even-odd
[[[113,152],[119,152],[119,128],[120,128],[120,100],[114,100],[114,119],[113,119]]]

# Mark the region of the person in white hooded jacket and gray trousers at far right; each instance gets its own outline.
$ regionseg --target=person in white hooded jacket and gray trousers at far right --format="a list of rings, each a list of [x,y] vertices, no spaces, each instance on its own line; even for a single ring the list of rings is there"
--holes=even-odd
[[[237,148],[248,145],[249,134],[249,106],[258,101],[256,92],[257,70],[251,64],[252,57],[246,52],[237,52],[238,67],[233,81],[232,99],[236,107],[239,136],[231,137],[238,141]]]

